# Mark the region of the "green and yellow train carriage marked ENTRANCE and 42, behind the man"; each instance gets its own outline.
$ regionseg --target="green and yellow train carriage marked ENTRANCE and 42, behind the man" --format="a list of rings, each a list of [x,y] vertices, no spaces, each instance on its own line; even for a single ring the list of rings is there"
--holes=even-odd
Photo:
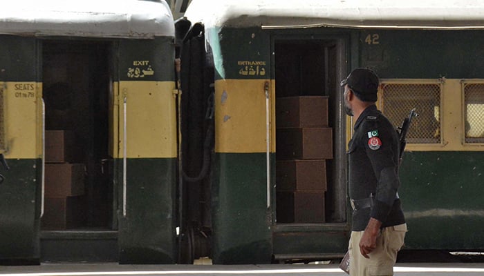
[[[182,90],[201,97],[203,109],[212,87],[214,152],[211,174],[187,186],[190,197],[211,202],[196,212],[184,206],[192,221],[187,239],[200,245],[189,257],[200,257],[205,247],[216,264],[342,257],[351,224],[345,155],[353,122],[344,115],[339,81],[357,67],[372,68],[382,79],[378,107],[395,126],[412,108],[420,115],[400,168],[410,230],[405,248],[482,250],[484,236],[476,229],[484,222],[483,8],[478,1],[192,1],[187,21],[176,23],[182,68],[192,64],[184,55],[190,62],[201,57],[201,69],[190,67],[185,77],[206,70],[213,77]],[[288,144],[281,118],[293,118],[281,115],[287,110],[277,103],[286,97],[326,99],[327,113],[316,108],[313,117],[327,117],[317,127],[330,128],[331,135],[300,134],[299,128],[299,138]],[[331,144],[331,155],[288,158],[288,147],[299,150],[290,148],[294,144],[313,150]],[[292,173],[279,166],[286,159],[324,159],[324,168],[305,172],[314,178],[324,170],[326,187],[318,189],[326,189],[324,196],[299,197],[304,190],[295,189],[292,201],[281,198],[281,175]],[[295,204],[296,197],[303,204]]]

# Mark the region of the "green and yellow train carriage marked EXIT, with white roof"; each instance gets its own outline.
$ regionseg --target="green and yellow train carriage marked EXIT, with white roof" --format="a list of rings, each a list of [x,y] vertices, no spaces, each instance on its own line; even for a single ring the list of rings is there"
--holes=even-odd
[[[167,3],[19,1],[0,14],[0,262],[176,262]]]

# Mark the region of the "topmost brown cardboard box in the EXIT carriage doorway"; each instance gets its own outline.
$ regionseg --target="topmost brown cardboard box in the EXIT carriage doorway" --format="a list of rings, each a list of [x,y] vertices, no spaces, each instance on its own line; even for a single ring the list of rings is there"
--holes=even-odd
[[[79,161],[79,148],[69,130],[46,130],[45,160],[50,163]]]

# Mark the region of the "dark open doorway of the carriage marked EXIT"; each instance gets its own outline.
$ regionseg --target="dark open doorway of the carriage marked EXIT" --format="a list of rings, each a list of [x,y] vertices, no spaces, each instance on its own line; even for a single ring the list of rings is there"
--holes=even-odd
[[[64,55],[64,57],[57,57],[57,59],[65,59],[61,62],[65,63],[65,66],[59,66],[57,70],[64,70],[64,75],[66,75],[65,83],[71,87],[71,95],[68,97],[73,101],[71,104],[73,110],[70,115],[65,117],[73,117],[71,123],[73,124],[71,135],[73,141],[77,141],[72,144],[67,149],[66,152],[73,152],[73,155],[78,155],[73,157],[72,160],[66,160],[67,163],[72,166],[80,165],[84,168],[84,190],[85,195],[81,195],[83,199],[75,200],[72,204],[82,204],[84,206],[83,212],[75,212],[77,214],[77,219],[79,223],[75,223],[77,219],[74,219],[73,226],[63,229],[59,226],[46,227],[44,225],[44,219],[46,219],[44,212],[44,219],[42,219],[42,226],[40,227],[40,242],[41,242],[41,261],[72,261],[76,258],[84,258],[83,256],[89,255],[84,249],[89,246],[81,245],[77,248],[77,253],[74,255],[69,255],[68,253],[59,252],[57,249],[59,244],[63,242],[72,242],[71,246],[75,246],[78,242],[75,240],[84,240],[94,246],[95,248],[102,248],[103,255],[97,255],[97,253],[91,253],[91,257],[94,259],[99,258],[100,260],[111,260],[115,261],[117,257],[117,228],[118,228],[118,218],[117,212],[117,186],[115,185],[114,175],[113,175],[113,157],[109,153],[109,145],[113,141],[109,141],[113,136],[110,131],[112,128],[109,126],[110,121],[112,121],[112,114],[109,110],[113,103],[114,97],[114,87],[113,81],[115,81],[115,70],[116,61],[114,60],[113,51],[115,51],[115,41],[112,40],[102,40],[102,39],[64,39],[64,38],[48,38],[39,39],[39,70],[41,72],[41,79],[43,83],[43,98],[44,101],[48,97],[48,82],[45,83],[46,77],[50,78],[50,82],[55,81],[55,69],[51,70],[50,77],[46,76],[46,67],[49,63],[56,63],[55,60],[46,60],[48,55],[53,55],[51,58],[56,59],[55,55]],[[59,49],[61,50],[59,50]],[[62,48],[66,51],[63,53]],[[49,52],[50,51],[50,52]],[[75,55],[79,57],[86,57],[86,59],[80,58],[77,60]],[[102,58],[102,64],[100,62],[100,57]],[[77,60],[77,61],[76,61]],[[57,60],[58,62],[59,60]],[[85,72],[79,72],[79,69],[75,69],[78,72],[72,70],[72,67],[82,66],[87,67],[81,70]],[[107,68],[106,68],[107,67]],[[71,69],[69,69],[71,68]],[[106,70],[103,70],[106,69]],[[47,71],[48,72],[48,71]],[[61,72],[62,74],[62,72]],[[102,74],[102,76],[100,76]],[[77,79],[84,75],[84,80]],[[76,85],[82,84],[81,85]],[[47,84],[47,85],[46,85]],[[55,83],[51,83],[55,84]],[[76,87],[77,86],[77,87]],[[99,93],[97,93],[99,91]],[[76,100],[77,99],[77,100]],[[80,99],[85,99],[80,103]],[[48,101],[45,104],[46,115],[50,111],[48,106]],[[86,115],[80,109],[85,108],[89,113]],[[72,115],[72,116],[71,116]],[[59,117],[59,115],[55,115]],[[55,117],[54,116],[54,117]],[[82,119],[84,117],[85,119]],[[77,119],[81,120],[77,120]],[[66,118],[64,118],[65,120]],[[69,119],[66,119],[69,121]],[[84,121],[82,123],[81,121]],[[94,122],[96,122],[94,124]],[[84,128],[82,128],[84,126]],[[43,131],[47,130],[49,126],[44,123],[42,128]],[[52,127],[52,124],[51,126]],[[53,129],[59,129],[59,126],[55,126]],[[111,128],[111,130],[110,130]],[[101,131],[100,131],[101,130]],[[81,139],[80,139],[81,138]],[[45,138],[44,138],[45,139]],[[66,140],[68,141],[68,140]],[[81,143],[78,143],[81,142]],[[100,152],[100,147],[103,147],[102,154],[97,154]],[[84,148],[85,150],[79,150],[75,148]],[[102,156],[101,156],[102,155]],[[48,160],[47,160],[48,161]],[[52,161],[50,161],[52,162]],[[46,162],[48,164],[48,162]],[[50,166],[57,165],[56,163],[50,163]],[[100,166],[100,168],[98,168]],[[52,171],[52,169],[50,170]],[[75,172],[73,170],[73,172]],[[77,173],[78,174],[78,173]],[[104,177],[100,177],[100,175]],[[76,177],[77,178],[77,177]],[[97,180],[97,179],[102,180]],[[102,181],[102,185],[101,184]],[[99,190],[100,187],[102,191]],[[96,188],[97,187],[97,188]],[[94,190],[97,190],[95,192]],[[98,195],[96,195],[96,193]],[[43,206],[45,206],[45,196],[44,193],[41,195]],[[74,196],[76,198],[79,196]],[[66,199],[67,200],[67,199]],[[52,204],[51,204],[52,206]],[[66,207],[67,208],[67,207]],[[45,209],[45,208],[44,208]],[[49,210],[48,210],[49,211]],[[52,213],[53,210],[50,210]],[[50,222],[52,222],[53,214],[50,214]],[[67,223],[67,222],[66,222]],[[75,224],[75,226],[74,226]],[[84,243],[83,243],[84,244]],[[111,248],[111,249],[108,249]],[[73,250],[71,250],[73,252]],[[70,251],[70,252],[71,252]]]

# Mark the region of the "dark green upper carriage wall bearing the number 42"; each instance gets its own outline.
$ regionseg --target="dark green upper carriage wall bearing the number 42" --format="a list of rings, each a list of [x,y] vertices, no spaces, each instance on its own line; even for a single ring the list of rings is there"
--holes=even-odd
[[[362,30],[357,43],[360,66],[381,78],[484,77],[480,30]]]

